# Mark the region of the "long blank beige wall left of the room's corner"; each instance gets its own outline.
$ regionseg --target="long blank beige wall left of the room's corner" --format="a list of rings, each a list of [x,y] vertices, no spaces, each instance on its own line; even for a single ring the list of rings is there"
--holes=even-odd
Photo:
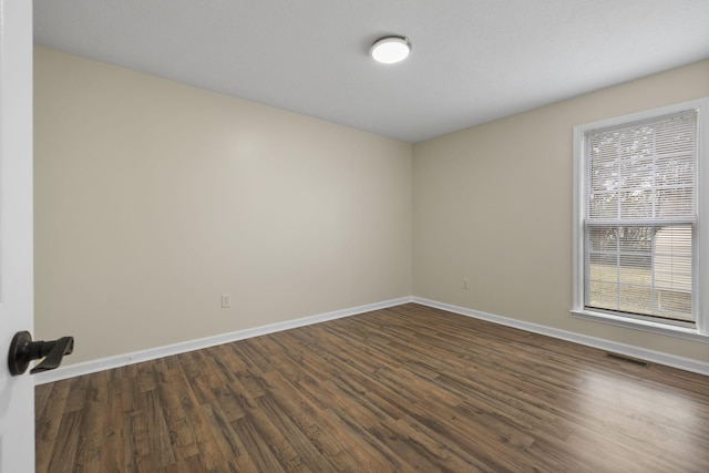
[[[66,364],[411,295],[411,145],[34,54],[35,336]]]

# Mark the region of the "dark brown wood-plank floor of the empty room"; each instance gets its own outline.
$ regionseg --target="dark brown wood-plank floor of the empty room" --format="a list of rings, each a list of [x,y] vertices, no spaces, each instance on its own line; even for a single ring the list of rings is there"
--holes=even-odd
[[[37,387],[38,472],[708,472],[709,378],[418,305]]]

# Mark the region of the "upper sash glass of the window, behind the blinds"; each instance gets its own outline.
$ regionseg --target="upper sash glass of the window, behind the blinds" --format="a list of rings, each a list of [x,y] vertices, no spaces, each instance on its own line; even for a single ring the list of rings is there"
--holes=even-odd
[[[587,217],[696,217],[696,112],[586,136]]]

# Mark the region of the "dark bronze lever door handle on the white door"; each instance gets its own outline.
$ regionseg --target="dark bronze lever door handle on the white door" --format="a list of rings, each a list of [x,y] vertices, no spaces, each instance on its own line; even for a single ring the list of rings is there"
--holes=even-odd
[[[74,338],[62,337],[53,341],[32,341],[29,331],[19,331],[12,337],[8,367],[12,376],[27,371],[30,362],[44,358],[44,361],[32,368],[30,374],[53,370],[62,362],[64,354],[74,351]]]

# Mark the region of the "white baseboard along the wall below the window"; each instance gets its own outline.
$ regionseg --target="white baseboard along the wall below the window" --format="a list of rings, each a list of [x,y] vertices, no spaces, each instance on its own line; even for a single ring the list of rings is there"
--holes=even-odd
[[[558,338],[574,343],[585,345],[587,347],[598,348],[600,350],[613,351],[633,358],[651,361],[658,364],[678,368],[680,370],[691,371],[699,374],[709,376],[709,363],[692,360],[690,358],[677,357],[674,354],[662,353],[660,351],[648,350],[645,348],[634,347],[631,345],[619,343],[616,341],[605,340],[602,338],[589,337],[582,333],[571,332],[566,330],[555,329],[553,327],[542,326],[523,320],[511,319],[508,317],[495,316],[493,313],[481,312],[477,310],[466,309],[464,307],[452,306],[450,304],[438,302],[435,300],[414,297],[413,302],[423,306],[433,307],[435,309],[446,310],[449,312],[467,316],[475,319],[486,320],[489,322],[500,323],[502,326],[513,327],[534,333],[545,335]]]

